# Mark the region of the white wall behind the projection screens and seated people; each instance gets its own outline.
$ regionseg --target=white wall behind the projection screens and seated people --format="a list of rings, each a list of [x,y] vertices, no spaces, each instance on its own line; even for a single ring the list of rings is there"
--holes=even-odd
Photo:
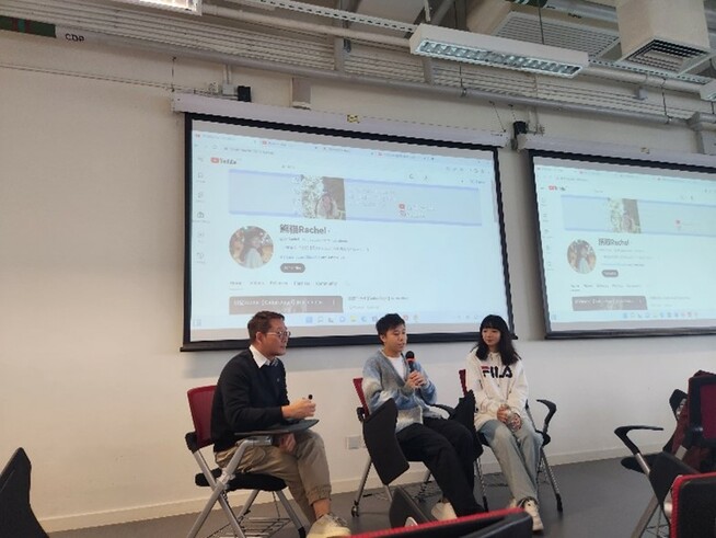
[[[231,353],[180,353],[183,117],[172,88],[223,68],[134,50],[82,49],[0,32],[0,461],[23,446],[48,530],[198,510],[186,389]],[[284,76],[236,72],[254,101],[285,106]],[[315,83],[314,110],[498,130],[524,111]],[[533,116],[532,116],[533,118]],[[691,131],[541,114],[547,134],[693,151]],[[500,150],[519,351],[532,396],[557,402],[553,463],[625,453],[627,423],[670,426],[667,398],[714,368],[716,336],[547,342],[524,154]],[[415,345],[457,401],[466,344]],[[350,378],[372,347],[291,351],[289,396],[312,392],[336,491],[365,462]],[[645,440],[662,443],[666,435]],[[416,470],[415,473],[418,471]],[[373,483],[377,483],[373,481]],[[347,514],[346,514],[347,515]]]

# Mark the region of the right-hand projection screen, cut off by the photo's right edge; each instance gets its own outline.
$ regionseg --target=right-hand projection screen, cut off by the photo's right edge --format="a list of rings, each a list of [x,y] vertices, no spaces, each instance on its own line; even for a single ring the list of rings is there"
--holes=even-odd
[[[716,170],[530,159],[547,337],[716,332]]]

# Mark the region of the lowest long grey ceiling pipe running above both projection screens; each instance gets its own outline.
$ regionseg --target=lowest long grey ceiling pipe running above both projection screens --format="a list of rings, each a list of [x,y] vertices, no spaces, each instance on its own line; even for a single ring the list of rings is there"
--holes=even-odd
[[[82,31],[88,37],[93,41],[109,45],[109,46],[124,46],[132,48],[141,48],[158,54],[165,54],[169,56],[182,56],[185,58],[199,59],[204,61],[212,61],[217,64],[226,64],[245,69],[255,69],[257,71],[272,71],[292,77],[301,77],[307,79],[317,79],[327,82],[345,83],[349,85],[370,85],[391,90],[400,90],[405,92],[418,92],[430,95],[439,95],[442,98],[462,98],[476,101],[484,101],[490,103],[503,103],[506,105],[522,105],[529,107],[539,107],[542,110],[551,110],[556,112],[568,112],[577,114],[592,114],[600,117],[609,116],[619,119],[637,121],[648,124],[658,125],[677,125],[688,126],[688,121],[661,114],[649,114],[645,112],[622,111],[617,108],[607,108],[601,106],[590,106],[576,103],[558,103],[540,98],[527,98],[520,95],[505,95],[500,93],[492,93],[483,90],[473,90],[469,88],[454,88],[444,85],[431,85],[424,82],[406,82],[394,81],[389,79],[381,79],[378,77],[367,77],[365,75],[349,75],[337,71],[325,71],[309,67],[292,66],[289,64],[277,64],[264,60],[254,60],[251,58],[242,58],[234,55],[208,50],[190,49],[185,47],[175,47],[162,44],[148,43],[142,39],[134,39],[126,37],[115,37],[104,34],[94,34],[92,32]]]

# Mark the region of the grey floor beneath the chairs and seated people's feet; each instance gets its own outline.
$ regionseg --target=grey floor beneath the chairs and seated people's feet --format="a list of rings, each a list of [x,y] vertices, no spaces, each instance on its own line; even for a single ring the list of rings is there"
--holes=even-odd
[[[650,490],[643,474],[627,471],[619,459],[605,459],[585,463],[553,467],[562,491],[564,511],[559,514],[548,484],[540,487],[540,513],[550,538],[628,537],[650,499]],[[207,490],[208,491],[208,490]],[[382,490],[365,497],[360,516],[351,517],[351,493],[334,495],[334,512],[344,517],[354,533],[389,527],[388,502]],[[490,508],[501,508],[508,502],[506,488],[487,490]],[[275,513],[272,503],[257,505],[252,514]],[[146,522],[109,525],[80,530],[53,533],[51,538],[154,538],[183,537],[192,527],[196,514],[165,517]],[[207,537],[226,524],[220,511],[215,511],[199,536]],[[216,536],[232,536],[220,533]],[[298,535],[286,526],[274,538],[296,538]]]

